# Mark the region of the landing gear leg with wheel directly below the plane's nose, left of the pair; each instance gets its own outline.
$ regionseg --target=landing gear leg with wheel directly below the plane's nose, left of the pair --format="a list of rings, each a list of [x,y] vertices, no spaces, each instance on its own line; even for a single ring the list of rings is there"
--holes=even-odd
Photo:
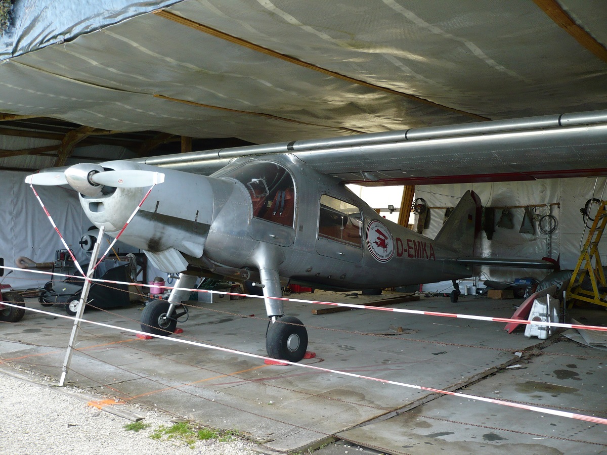
[[[194,288],[197,277],[193,275],[179,274],[175,282],[175,288]],[[184,309],[175,312],[183,300],[187,300],[191,291],[172,289],[168,302],[166,300],[152,300],[143,309],[141,314],[141,330],[154,335],[170,335],[177,327],[177,318],[187,314]]]

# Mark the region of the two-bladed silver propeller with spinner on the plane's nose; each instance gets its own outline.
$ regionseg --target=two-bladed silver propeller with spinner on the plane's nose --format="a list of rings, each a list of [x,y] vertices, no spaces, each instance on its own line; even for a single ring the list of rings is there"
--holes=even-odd
[[[25,183],[33,185],[69,184],[81,194],[96,197],[103,186],[138,188],[163,183],[164,174],[152,170],[124,169],[104,170],[98,164],[80,163],[68,167],[65,172],[42,172],[25,177]]]

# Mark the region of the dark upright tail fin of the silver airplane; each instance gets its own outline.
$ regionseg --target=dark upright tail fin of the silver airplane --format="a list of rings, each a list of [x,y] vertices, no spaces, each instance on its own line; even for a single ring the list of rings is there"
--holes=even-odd
[[[481,200],[468,190],[459,200],[447,221],[436,234],[435,241],[454,249],[462,256],[474,255],[474,240],[481,230]]]

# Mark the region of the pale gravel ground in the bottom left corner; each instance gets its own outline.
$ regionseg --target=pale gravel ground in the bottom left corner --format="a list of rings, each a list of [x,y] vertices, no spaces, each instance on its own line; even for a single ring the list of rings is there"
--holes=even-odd
[[[0,372],[0,454],[259,455],[251,450],[253,443],[239,438],[199,441],[193,449],[177,440],[151,439],[158,427],[172,425],[172,417],[121,405],[150,424],[137,433],[127,431],[124,425],[131,420],[89,406],[86,399],[58,391],[38,377],[32,379],[34,382]]]

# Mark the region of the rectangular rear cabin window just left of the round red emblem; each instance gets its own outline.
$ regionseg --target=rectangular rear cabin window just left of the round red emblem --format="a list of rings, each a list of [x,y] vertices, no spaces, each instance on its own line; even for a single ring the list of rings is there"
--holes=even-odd
[[[318,235],[362,248],[361,209],[326,194],[320,196]]]

